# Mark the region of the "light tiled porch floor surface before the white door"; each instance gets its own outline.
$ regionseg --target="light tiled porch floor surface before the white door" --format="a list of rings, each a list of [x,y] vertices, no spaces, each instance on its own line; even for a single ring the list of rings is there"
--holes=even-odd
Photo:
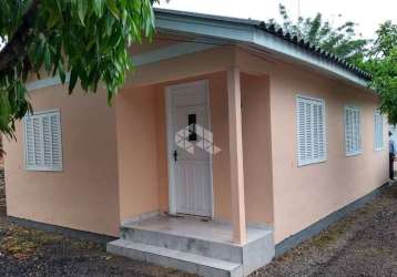
[[[233,244],[233,227],[231,224],[205,220],[191,216],[159,215],[141,222],[124,224],[123,227],[161,232],[169,235],[205,239],[222,244]],[[263,237],[269,232],[272,232],[269,226],[248,226],[247,244]]]

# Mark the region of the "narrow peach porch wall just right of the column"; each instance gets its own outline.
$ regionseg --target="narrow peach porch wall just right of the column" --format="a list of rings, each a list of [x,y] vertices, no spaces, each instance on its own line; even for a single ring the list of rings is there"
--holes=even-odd
[[[248,223],[273,225],[269,80],[242,74],[245,205]]]

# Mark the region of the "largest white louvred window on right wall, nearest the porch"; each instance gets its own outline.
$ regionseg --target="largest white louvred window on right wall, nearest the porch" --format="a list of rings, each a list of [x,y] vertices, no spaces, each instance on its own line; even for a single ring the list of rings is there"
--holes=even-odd
[[[298,166],[326,160],[325,104],[323,100],[297,96]]]

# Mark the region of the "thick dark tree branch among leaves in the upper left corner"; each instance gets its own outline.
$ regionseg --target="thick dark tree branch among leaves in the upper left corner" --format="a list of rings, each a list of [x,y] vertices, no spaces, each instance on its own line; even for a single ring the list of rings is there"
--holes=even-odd
[[[27,57],[27,42],[31,33],[34,18],[38,12],[40,0],[32,0],[32,3],[22,17],[22,23],[14,35],[0,52],[0,74],[12,69],[18,61]]]

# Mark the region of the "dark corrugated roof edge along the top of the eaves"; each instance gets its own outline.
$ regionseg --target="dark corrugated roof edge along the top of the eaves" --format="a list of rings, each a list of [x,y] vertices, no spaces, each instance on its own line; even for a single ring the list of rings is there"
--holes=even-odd
[[[195,17],[195,18],[202,18],[202,19],[211,19],[211,20],[217,20],[217,21],[253,25],[266,33],[269,33],[272,35],[283,39],[287,43],[293,43],[293,44],[299,47],[301,49],[304,49],[320,59],[330,61],[330,62],[337,64],[338,66],[350,71],[352,73],[354,73],[355,75],[357,75],[358,78],[360,78],[365,81],[371,80],[371,75],[369,73],[350,64],[349,62],[337,57],[336,54],[325,51],[325,50],[320,49],[319,47],[311,43],[309,41],[297,38],[296,35],[292,35],[288,32],[284,32],[284,30],[282,28],[276,28],[276,25],[267,24],[264,21],[252,20],[252,19],[240,19],[240,18],[232,18],[232,17],[222,17],[222,16],[205,14],[205,13],[189,12],[189,11],[160,9],[160,8],[155,8],[154,11],[155,11],[155,13],[159,13],[159,14],[173,13],[173,14],[179,14],[179,16],[187,16],[187,17]]]

